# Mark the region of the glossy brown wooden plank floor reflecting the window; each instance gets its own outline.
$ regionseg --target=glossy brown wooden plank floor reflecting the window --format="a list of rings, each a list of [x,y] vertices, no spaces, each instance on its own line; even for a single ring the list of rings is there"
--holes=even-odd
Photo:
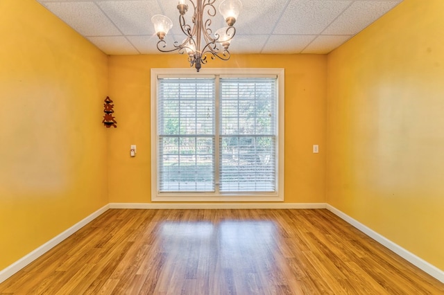
[[[111,209],[0,294],[444,294],[444,284],[323,209]]]

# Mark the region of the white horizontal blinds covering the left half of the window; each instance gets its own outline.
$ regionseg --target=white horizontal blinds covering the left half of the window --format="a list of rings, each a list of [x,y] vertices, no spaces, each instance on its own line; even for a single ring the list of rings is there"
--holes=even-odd
[[[160,78],[160,192],[214,191],[214,78]]]

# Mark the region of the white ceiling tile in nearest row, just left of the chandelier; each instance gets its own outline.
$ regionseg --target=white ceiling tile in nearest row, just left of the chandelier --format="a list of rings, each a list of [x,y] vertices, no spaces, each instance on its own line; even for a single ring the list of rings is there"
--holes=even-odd
[[[151,17],[162,13],[156,0],[101,1],[98,5],[125,35],[154,34]]]

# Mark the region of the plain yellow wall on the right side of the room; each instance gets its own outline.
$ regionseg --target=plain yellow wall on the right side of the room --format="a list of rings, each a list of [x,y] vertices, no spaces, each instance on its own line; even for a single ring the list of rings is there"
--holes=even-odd
[[[328,55],[327,202],[444,269],[444,1]]]

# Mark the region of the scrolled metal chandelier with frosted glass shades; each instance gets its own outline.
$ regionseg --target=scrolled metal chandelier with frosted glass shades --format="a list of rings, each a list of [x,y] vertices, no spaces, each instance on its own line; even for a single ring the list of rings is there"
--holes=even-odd
[[[187,24],[185,21],[185,13],[188,10],[186,0],[179,0],[179,25],[186,38],[179,42],[174,42],[173,47],[167,49],[167,42],[164,37],[173,26],[173,21],[164,15],[155,15],[151,18],[153,22],[155,33],[159,37],[157,42],[157,49],[162,52],[178,51],[178,53],[188,54],[188,61],[190,66],[200,70],[202,64],[207,63],[207,55],[212,60],[218,57],[221,60],[229,60],[230,52],[228,46],[230,46],[231,39],[236,33],[234,23],[242,8],[242,3],[239,0],[224,0],[219,6],[219,12],[225,19],[227,27],[219,28],[213,35],[212,17],[216,16],[216,8],[214,8],[214,2],[216,0],[188,0],[191,2],[194,8],[194,14],[191,17],[191,23]],[[206,15],[205,15],[206,12]]]

